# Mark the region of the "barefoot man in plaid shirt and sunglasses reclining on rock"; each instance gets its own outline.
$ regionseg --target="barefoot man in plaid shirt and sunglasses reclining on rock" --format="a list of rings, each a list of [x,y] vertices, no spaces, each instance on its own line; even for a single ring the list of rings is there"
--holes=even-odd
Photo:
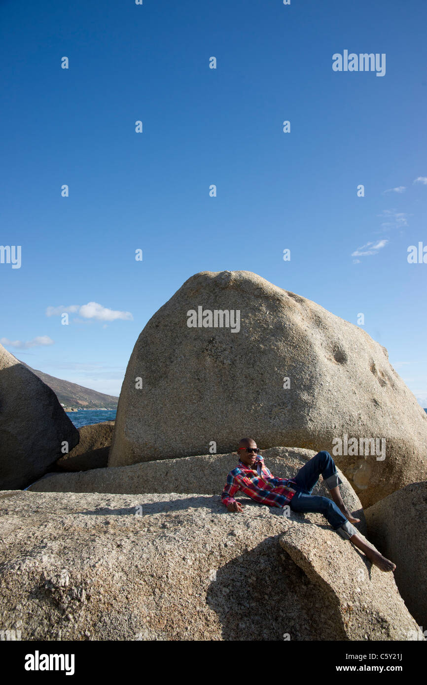
[[[334,531],[341,538],[350,540],[381,571],[394,571],[395,564],[382,556],[376,549],[363,542],[352,523],[355,519],[345,506],[339,492],[342,483],[337,467],[329,452],[319,452],[310,459],[295,478],[275,478],[264,464],[259,448],[252,438],[243,438],[238,447],[239,465],[230,471],[221,499],[229,512],[241,512],[243,504],[234,499],[238,490],[249,495],[261,504],[273,507],[285,507],[294,512],[316,512],[324,514]],[[312,495],[313,488],[322,475],[330,490],[332,499]],[[333,500],[333,501],[332,501]]]

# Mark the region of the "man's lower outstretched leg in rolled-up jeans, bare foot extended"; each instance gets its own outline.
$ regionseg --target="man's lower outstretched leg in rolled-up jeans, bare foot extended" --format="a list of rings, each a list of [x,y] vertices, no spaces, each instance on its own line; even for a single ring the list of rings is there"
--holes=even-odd
[[[295,512],[315,512],[324,514],[335,532],[337,532],[344,540],[350,540],[353,545],[363,551],[372,564],[378,566],[381,571],[394,571],[395,564],[389,559],[386,559],[376,549],[367,545],[361,536],[358,534],[356,528],[345,519],[345,516],[340,512],[336,503],[328,497],[318,497],[317,495],[305,495],[297,492],[293,496],[290,503],[291,510]]]

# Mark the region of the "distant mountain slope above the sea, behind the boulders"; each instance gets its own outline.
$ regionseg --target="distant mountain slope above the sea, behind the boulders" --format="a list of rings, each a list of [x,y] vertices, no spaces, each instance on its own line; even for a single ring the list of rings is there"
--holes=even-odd
[[[20,360],[21,361],[21,360]],[[32,369],[31,366],[21,362],[27,369],[32,371],[38,376],[43,383],[45,383],[49,388],[53,390],[58,397],[58,400],[66,408],[70,409],[117,409],[117,402],[119,397],[114,397],[114,395],[104,395],[103,393],[97,393],[96,390],[90,390],[89,388],[84,388],[76,383],[70,383],[69,381],[63,381],[60,378],[54,376],[49,376],[48,373],[43,373],[37,369]]]

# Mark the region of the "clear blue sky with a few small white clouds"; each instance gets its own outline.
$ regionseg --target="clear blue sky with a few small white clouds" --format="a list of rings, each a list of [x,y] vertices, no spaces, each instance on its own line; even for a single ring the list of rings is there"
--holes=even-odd
[[[182,283],[244,269],[363,312],[427,406],[426,25],[422,0],[0,0],[3,345],[119,395]],[[332,71],[344,50],[385,75]]]

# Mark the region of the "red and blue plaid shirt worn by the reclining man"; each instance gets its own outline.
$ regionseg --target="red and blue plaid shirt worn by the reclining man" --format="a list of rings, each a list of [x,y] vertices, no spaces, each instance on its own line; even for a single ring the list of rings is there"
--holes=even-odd
[[[293,495],[289,488],[295,489],[294,478],[275,478],[260,455],[255,460],[254,469],[239,459],[239,465],[230,471],[221,499],[225,506],[235,502],[234,495],[238,490],[252,497],[261,504],[273,507],[284,507],[289,504]]]

